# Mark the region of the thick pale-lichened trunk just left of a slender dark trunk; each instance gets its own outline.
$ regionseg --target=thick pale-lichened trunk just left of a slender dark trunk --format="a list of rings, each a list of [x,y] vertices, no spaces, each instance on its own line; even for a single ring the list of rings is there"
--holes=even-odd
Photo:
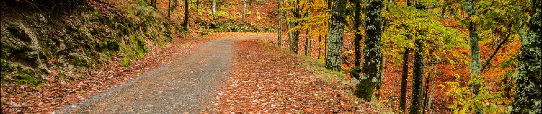
[[[346,23],[346,1],[335,0],[334,3],[329,23],[326,68],[340,71],[341,56],[343,55],[344,25]]]

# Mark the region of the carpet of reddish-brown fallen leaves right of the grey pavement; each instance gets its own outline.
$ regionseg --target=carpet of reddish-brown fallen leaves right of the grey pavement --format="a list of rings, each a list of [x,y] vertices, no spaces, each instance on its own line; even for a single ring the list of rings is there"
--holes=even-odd
[[[328,83],[300,65],[299,57],[266,46],[238,42],[227,84],[216,93],[216,112],[376,113],[369,103],[345,93],[347,85]]]

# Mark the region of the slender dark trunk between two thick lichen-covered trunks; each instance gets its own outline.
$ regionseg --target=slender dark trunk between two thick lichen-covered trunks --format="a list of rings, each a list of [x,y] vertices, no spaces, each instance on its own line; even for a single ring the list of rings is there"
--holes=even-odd
[[[362,41],[362,33],[359,30],[359,26],[362,24],[362,6],[360,1],[361,0],[356,0],[356,2],[354,2],[356,6],[356,11],[354,11],[354,30],[356,31],[356,34],[354,35],[356,36],[354,37],[354,66],[362,65],[362,45],[360,44],[360,41]]]

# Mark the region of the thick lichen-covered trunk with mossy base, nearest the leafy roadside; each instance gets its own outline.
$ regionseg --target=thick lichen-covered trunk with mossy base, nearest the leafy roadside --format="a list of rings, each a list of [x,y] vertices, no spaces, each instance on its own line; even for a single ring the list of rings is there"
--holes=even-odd
[[[354,95],[370,102],[373,92],[380,83],[380,65],[382,65],[382,52],[380,51],[380,36],[382,35],[382,0],[371,1],[366,4],[365,12],[365,41],[363,48],[363,67],[360,81],[356,85]]]

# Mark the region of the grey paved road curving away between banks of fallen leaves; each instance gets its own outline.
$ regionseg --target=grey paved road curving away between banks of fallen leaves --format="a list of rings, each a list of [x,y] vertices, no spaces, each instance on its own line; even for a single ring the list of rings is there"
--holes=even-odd
[[[212,108],[216,86],[224,84],[234,62],[235,42],[274,37],[254,35],[215,39],[169,65],[98,93],[56,113],[200,113]]]

